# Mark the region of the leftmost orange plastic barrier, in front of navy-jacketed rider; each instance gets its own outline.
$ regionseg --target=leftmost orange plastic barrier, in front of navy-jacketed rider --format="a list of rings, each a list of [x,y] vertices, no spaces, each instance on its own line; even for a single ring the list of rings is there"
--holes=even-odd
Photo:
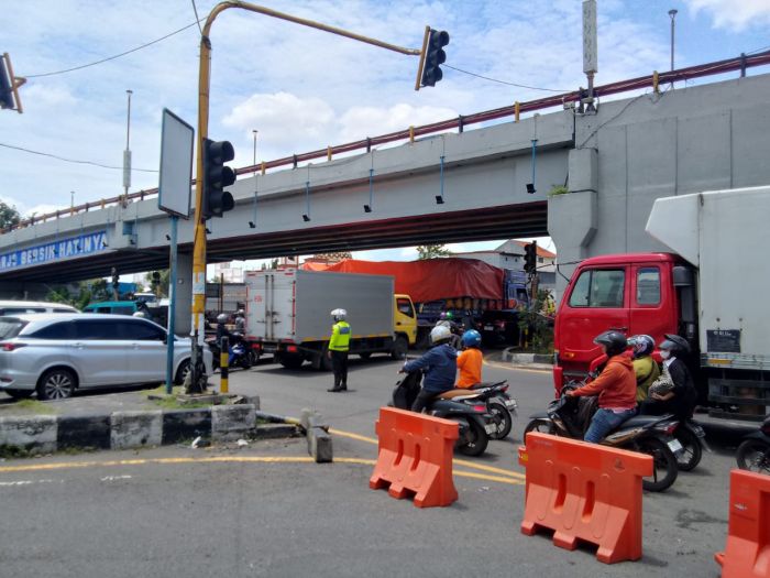
[[[375,425],[380,452],[369,487],[389,486],[392,497],[415,493],[415,505],[449,505],[458,499],[452,480],[452,455],[459,437],[457,422],[381,407]]]

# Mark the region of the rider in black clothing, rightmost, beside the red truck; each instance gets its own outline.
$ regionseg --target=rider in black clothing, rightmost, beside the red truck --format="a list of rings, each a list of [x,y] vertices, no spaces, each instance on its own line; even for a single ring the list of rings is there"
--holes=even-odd
[[[666,393],[656,392],[654,384],[650,389],[650,397],[642,404],[645,414],[662,415],[672,413],[680,419],[692,417],[697,392],[692,374],[684,362],[690,353],[690,343],[681,336],[666,334],[666,339],[658,346],[663,358],[663,374],[671,378],[672,386],[666,388]]]

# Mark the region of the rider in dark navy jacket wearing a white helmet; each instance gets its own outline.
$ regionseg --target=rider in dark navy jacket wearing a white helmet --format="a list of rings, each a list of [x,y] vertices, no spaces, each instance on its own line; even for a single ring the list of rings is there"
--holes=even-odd
[[[438,394],[454,389],[454,377],[458,372],[458,351],[449,341],[452,339],[452,331],[449,327],[438,325],[430,330],[430,342],[433,347],[426,351],[422,357],[408,361],[399,373],[409,373],[422,370],[422,389],[417,394],[411,411],[420,413],[425,406]]]

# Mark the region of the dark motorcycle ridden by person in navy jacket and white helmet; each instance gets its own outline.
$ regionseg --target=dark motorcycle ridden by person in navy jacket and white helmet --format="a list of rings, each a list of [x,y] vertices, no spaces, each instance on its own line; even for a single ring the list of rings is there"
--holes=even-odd
[[[398,410],[409,410],[415,402],[417,394],[420,392],[420,383],[422,382],[422,372],[413,371],[406,373],[404,378],[396,382],[396,388],[393,390],[391,405]],[[466,397],[474,397],[477,394],[468,392]],[[486,451],[486,446],[490,443],[490,433],[494,432],[495,426],[487,424],[485,403],[466,404],[462,399],[446,399],[442,396],[436,397],[428,404],[427,411],[436,417],[443,417],[457,422],[460,426],[460,437],[454,444],[454,447],[465,456],[481,456]]]

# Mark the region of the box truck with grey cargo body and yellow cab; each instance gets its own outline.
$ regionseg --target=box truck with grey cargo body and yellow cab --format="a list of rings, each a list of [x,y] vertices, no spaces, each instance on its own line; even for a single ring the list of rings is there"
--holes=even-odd
[[[385,275],[287,269],[246,273],[246,339],[285,368],[309,361],[329,369],[331,310],[343,308],[353,337],[351,355],[404,359],[415,345],[417,317],[408,295],[394,294]]]

